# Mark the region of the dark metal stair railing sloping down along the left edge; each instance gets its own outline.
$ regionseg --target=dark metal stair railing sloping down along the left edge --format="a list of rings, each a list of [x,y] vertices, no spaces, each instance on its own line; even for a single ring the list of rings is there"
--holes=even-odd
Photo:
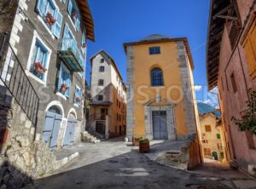
[[[8,36],[0,34],[0,82],[8,89],[26,117],[37,126],[39,98],[32,83],[8,42]]]

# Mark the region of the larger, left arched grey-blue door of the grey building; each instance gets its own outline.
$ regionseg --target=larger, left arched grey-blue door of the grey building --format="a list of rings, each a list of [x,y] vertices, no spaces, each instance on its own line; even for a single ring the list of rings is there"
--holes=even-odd
[[[59,106],[50,106],[45,115],[43,140],[51,150],[57,147],[61,128],[62,112]]]

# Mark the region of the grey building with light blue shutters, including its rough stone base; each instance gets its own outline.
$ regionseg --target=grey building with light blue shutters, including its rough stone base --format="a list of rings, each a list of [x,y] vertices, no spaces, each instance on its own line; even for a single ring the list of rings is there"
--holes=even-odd
[[[0,185],[20,188],[60,168],[65,162],[52,151],[80,140],[93,20],[87,1],[3,1],[0,8]],[[64,83],[66,90],[60,88]]]

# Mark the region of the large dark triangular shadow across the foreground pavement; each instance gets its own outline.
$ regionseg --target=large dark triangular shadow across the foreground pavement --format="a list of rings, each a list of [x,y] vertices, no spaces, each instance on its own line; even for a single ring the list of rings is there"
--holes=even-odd
[[[26,188],[197,188],[194,186],[229,188],[219,183],[218,179],[154,163],[133,150],[79,169],[35,180],[34,185]]]

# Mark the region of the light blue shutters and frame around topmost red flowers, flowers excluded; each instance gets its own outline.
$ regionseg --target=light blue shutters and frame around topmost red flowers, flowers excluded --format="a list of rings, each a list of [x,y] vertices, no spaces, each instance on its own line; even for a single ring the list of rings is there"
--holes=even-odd
[[[56,19],[55,23],[52,26],[47,25],[46,21],[46,14],[49,10],[49,6],[52,7],[54,11],[54,14],[52,15]],[[43,24],[44,26],[46,26],[46,29],[48,29],[48,31],[50,31],[50,33],[53,34],[55,37],[59,38],[61,36],[63,16],[57,4],[55,3],[55,0],[38,0],[36,4],[36,10],[40,18],[43,20]]]

